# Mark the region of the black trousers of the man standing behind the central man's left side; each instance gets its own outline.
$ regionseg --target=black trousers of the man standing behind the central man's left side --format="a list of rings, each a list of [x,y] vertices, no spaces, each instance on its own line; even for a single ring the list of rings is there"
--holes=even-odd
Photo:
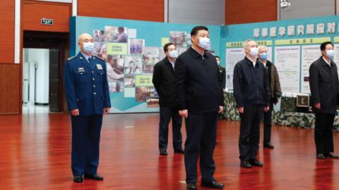
[[[167,150],[168,125],[172,118],[173,148],[182,150],[182,117],[179,116],[179,109],[174,107],[160,106],[159,123],[159,149]]]

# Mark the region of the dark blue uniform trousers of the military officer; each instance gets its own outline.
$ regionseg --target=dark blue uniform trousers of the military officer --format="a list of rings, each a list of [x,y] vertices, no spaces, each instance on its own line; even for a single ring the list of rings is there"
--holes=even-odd
[[[71,116],[73,175],[95,175],[99,165],[102,115]]]

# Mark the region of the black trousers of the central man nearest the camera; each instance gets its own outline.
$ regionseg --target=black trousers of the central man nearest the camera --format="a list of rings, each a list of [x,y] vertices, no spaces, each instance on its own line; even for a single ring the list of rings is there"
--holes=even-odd
[[[200,156],[201,180],[214,181],[215,163],[213,152],[217,138],[218,112],[189,113],[186,122],[185,168],[186,182],[196,183],[196,165]]]

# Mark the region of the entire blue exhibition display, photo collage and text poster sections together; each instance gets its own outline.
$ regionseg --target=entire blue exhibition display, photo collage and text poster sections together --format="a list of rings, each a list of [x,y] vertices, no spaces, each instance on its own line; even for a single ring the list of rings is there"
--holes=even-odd
[[[186,51],[194,26],[77,16],[70,24],[71,56],[79,51],[78,36],[92,34],[93,53],[107,62],[111,113],[157,112],[153,66],[165,57],[162,46],[167,42],[177,44],[179,53]],[[230,90],[234,65],[245,55],[246,39],[268,47],[268,60],[278,69],[283,94],[309,94],[309,65],[321,56],[322,42],[335,44],[334,61],[339,63],[338,16],[207,27],[211,51],[226,68],[226,88]]]

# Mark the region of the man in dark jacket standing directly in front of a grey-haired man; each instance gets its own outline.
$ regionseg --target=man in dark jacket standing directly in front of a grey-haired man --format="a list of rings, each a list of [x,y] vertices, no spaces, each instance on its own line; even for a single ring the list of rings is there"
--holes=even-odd
[[[234,66],[233,91],[240,114],[239,153],[240,166],[262,167],[256,159],[260,139],[263,110],[270,106],[270,89],[263,64],[256,60],[258,47],[253,40],[244,43],[245,58]]]

